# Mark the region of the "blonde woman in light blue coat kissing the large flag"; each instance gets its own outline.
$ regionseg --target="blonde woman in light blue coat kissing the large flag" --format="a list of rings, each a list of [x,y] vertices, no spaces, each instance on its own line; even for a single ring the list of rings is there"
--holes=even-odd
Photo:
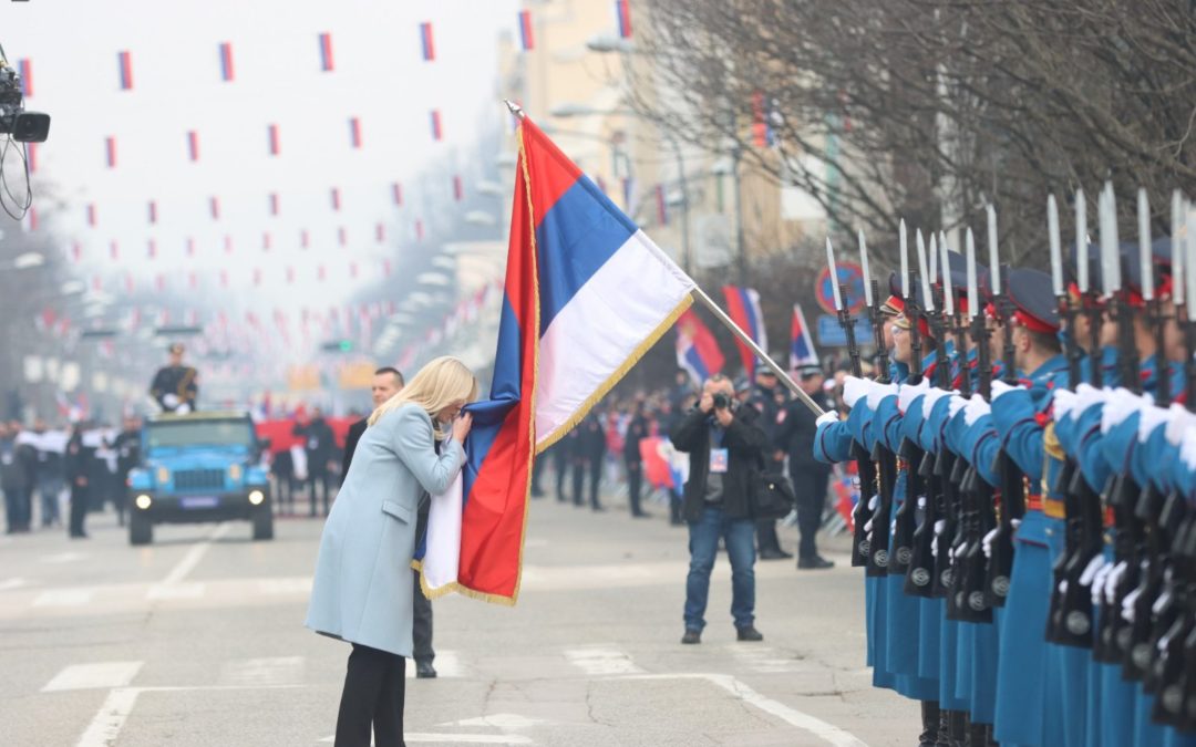
[[[367,747],[371,724],[378,747],[403,745],[416,509],[465,464],[472,421],[459,414],[475,397],[477,380],[459,360],[425,366],[370,416],[324,525],[305,625],[353,644],[337,747]]]

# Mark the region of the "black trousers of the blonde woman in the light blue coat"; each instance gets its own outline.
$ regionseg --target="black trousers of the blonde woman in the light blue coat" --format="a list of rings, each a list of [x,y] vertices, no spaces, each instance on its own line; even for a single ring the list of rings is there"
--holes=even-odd
[[[336,716],[336,747],[404,747],[403,700],[407,660],[389,651],[353,644]]]

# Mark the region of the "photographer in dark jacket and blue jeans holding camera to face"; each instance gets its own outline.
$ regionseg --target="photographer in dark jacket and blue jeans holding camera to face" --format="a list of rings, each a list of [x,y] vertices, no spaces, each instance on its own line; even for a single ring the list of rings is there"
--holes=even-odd
[[[702,386],[697,408],[669,433],[673,446],[689,454],[683,512],[689,523],[689,576],[685,580],[685,635],[682,643],[701,643],[706,601],[719,538],[731,559],[731,616],[739,641],[762,641],[756,630],[756,525],[749,484],[767,436],[756,424],[755,408],[738,406],[731,380],[721,374]]]

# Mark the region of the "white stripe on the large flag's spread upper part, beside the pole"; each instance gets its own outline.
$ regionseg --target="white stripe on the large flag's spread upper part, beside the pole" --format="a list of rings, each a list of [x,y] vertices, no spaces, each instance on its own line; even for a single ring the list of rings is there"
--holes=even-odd
[[[642,231],[611,255],[541,337],[537,445],[568,424],[692,288]]]

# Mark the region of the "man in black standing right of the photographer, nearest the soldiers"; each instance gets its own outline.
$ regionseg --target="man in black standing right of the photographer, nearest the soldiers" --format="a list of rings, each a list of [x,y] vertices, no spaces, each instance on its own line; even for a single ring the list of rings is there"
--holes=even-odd
[[[801,391],[810,396],[826,411],[834,406],[826,400],[823,391],[825,375],[817,363],[801,366],[793,372]],[[822,569],[835,565],[818,555],[814,538],[822,526],[823,509],[826,506],[826,485],[830,479],[829,464],[814,459],[814,414],[800,400],[792,400],[786,406],[786,417],[781,423],[777,440],[789,455],[789,480],[798,497],[798,531],[801,539],[798,544],[798,568]]]

